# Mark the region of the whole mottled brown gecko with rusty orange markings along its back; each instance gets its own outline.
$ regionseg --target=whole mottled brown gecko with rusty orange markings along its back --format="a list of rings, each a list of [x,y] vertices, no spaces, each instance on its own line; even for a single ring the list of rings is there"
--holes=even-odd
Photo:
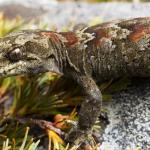
[[[53,71],[83,89],[79,121],[70,143],[91,130],[102,96],[96,82],[150,76],[150,18],[99,24],[76,32],[20,31],[0,39],[0,76]]]

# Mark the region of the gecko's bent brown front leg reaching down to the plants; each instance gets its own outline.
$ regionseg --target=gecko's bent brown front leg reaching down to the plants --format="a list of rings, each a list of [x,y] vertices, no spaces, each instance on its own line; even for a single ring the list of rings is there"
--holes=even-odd
[[[85,136],[91,131],[92,126],[100,115],[102,95],[95,81],[87,76],[77,78],[78,84],[83,89],[84,101],[81,104],[77,128],[72,129],[67,136],[67,142],[84,142]]]

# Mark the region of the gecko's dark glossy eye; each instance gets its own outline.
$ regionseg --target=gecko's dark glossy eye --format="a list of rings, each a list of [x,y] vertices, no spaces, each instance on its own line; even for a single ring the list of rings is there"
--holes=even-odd
[[[13,50],[11,50],[10,52],[8,52],[6,54],[6,57],[10,60],[10,61],[19,61],[21,59],[24,59],[26,56],[25,50],[23,47],[17,47],[14,48]]]

